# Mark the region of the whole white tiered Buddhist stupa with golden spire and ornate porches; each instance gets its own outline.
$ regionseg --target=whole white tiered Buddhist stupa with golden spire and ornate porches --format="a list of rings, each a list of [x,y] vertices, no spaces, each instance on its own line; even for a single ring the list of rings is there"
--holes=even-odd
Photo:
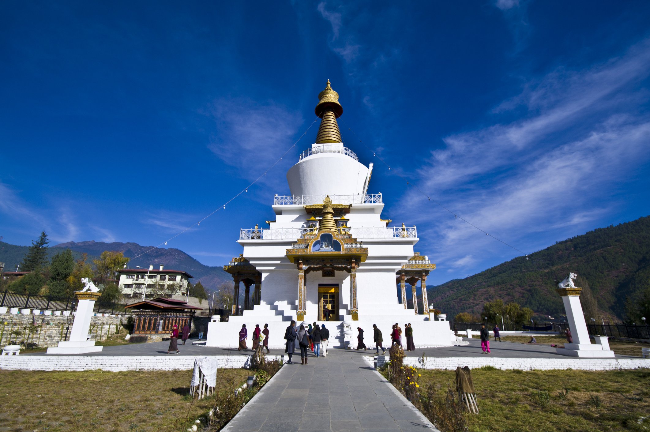
[[[415,285],[426,287],[435,269],[413,251],[417,228],[382,219],[382,194],[368,192],[372,163],[365,166],[344,145],[337,124],[343,107],[330,81],[318,99],[315,143],[287,172],[291,194],[273,198],[268,227],[240,230],[243,253],[224,266],[235,282],[233,310],[242,314],[212,322],[207,345],[236,346],[242,324],[268,324],[269,346],[280,348],[291,320],[322,322],[324,308],[331,312],[326,325],[333,347],[343,344],[344,324],[355,336],[363,328],[370,342],[376,324],[390,346],[396,322],[402,329],[411,323],[416,346],[451,345],[448,322],[430,316],[426,289],[421,310],[417,301],[407,307],[406,284],[415,298]]]

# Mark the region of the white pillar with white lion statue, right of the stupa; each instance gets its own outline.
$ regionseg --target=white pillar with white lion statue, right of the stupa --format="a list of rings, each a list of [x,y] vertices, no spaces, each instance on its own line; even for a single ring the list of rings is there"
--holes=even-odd
[[[580,292],[573,283],[575,273],[569,273],[564,281],[558,284],[557,292],[562,296],[564,310],[567,315],[567,324],[571,331],[573,342],[564,344],[564,348],[556,348],[558,354],[571,357],[614,357],[614,351],[609,349],[607,337],[595,337],[598,344],[592,344],[589,338],[587,324],[584,321],[582,305],[580,305]]]

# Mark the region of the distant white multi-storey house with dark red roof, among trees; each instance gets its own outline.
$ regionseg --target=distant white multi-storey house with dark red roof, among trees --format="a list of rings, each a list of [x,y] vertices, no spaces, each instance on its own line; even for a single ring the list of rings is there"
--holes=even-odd
[[[187,296],[189,279],[193,276],[183,270],[164,270],[160,264],[158,270],[153,266],[146,268],[127,268],[117,270],[120,275],[119,285],[124,298],[142,298],[146,290],[146,298]]]

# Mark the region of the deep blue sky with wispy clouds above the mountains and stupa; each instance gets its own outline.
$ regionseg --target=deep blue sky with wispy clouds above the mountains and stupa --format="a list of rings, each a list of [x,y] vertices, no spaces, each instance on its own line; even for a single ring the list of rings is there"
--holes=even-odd
[[[330,79],[384,217],[417,225],[432,285],[466,277],[521,253],[424,195],[525,253],[650,214],[649,16],[645,1],[4,2],[0,236],[155,246],[266,172],[168,242],[224,264],[289,193]]]

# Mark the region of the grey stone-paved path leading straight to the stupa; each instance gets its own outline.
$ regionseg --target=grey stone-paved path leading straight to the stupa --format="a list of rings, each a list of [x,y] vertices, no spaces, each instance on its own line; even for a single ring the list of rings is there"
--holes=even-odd
[[[361,356],[342,350],[285,364],[223,430],[437,431]]]

